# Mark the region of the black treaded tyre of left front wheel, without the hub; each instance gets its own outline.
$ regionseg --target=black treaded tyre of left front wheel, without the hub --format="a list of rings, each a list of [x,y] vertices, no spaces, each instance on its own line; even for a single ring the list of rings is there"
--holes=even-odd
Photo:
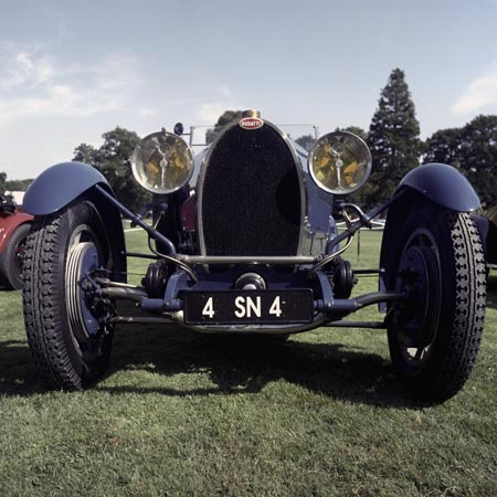
[[[40,374],[52,387],[70,391],[83,390],[99,378],[110,351],[107,347],[94,362],[75,359],[76,349],[67,331],[61,267],[71,222],[77,215],[89,220],[91,205],[83,202],[64,212],[34,218],[27,240],[22,293],[28,343]],[[106,340],[112,343],[112,336]]]

